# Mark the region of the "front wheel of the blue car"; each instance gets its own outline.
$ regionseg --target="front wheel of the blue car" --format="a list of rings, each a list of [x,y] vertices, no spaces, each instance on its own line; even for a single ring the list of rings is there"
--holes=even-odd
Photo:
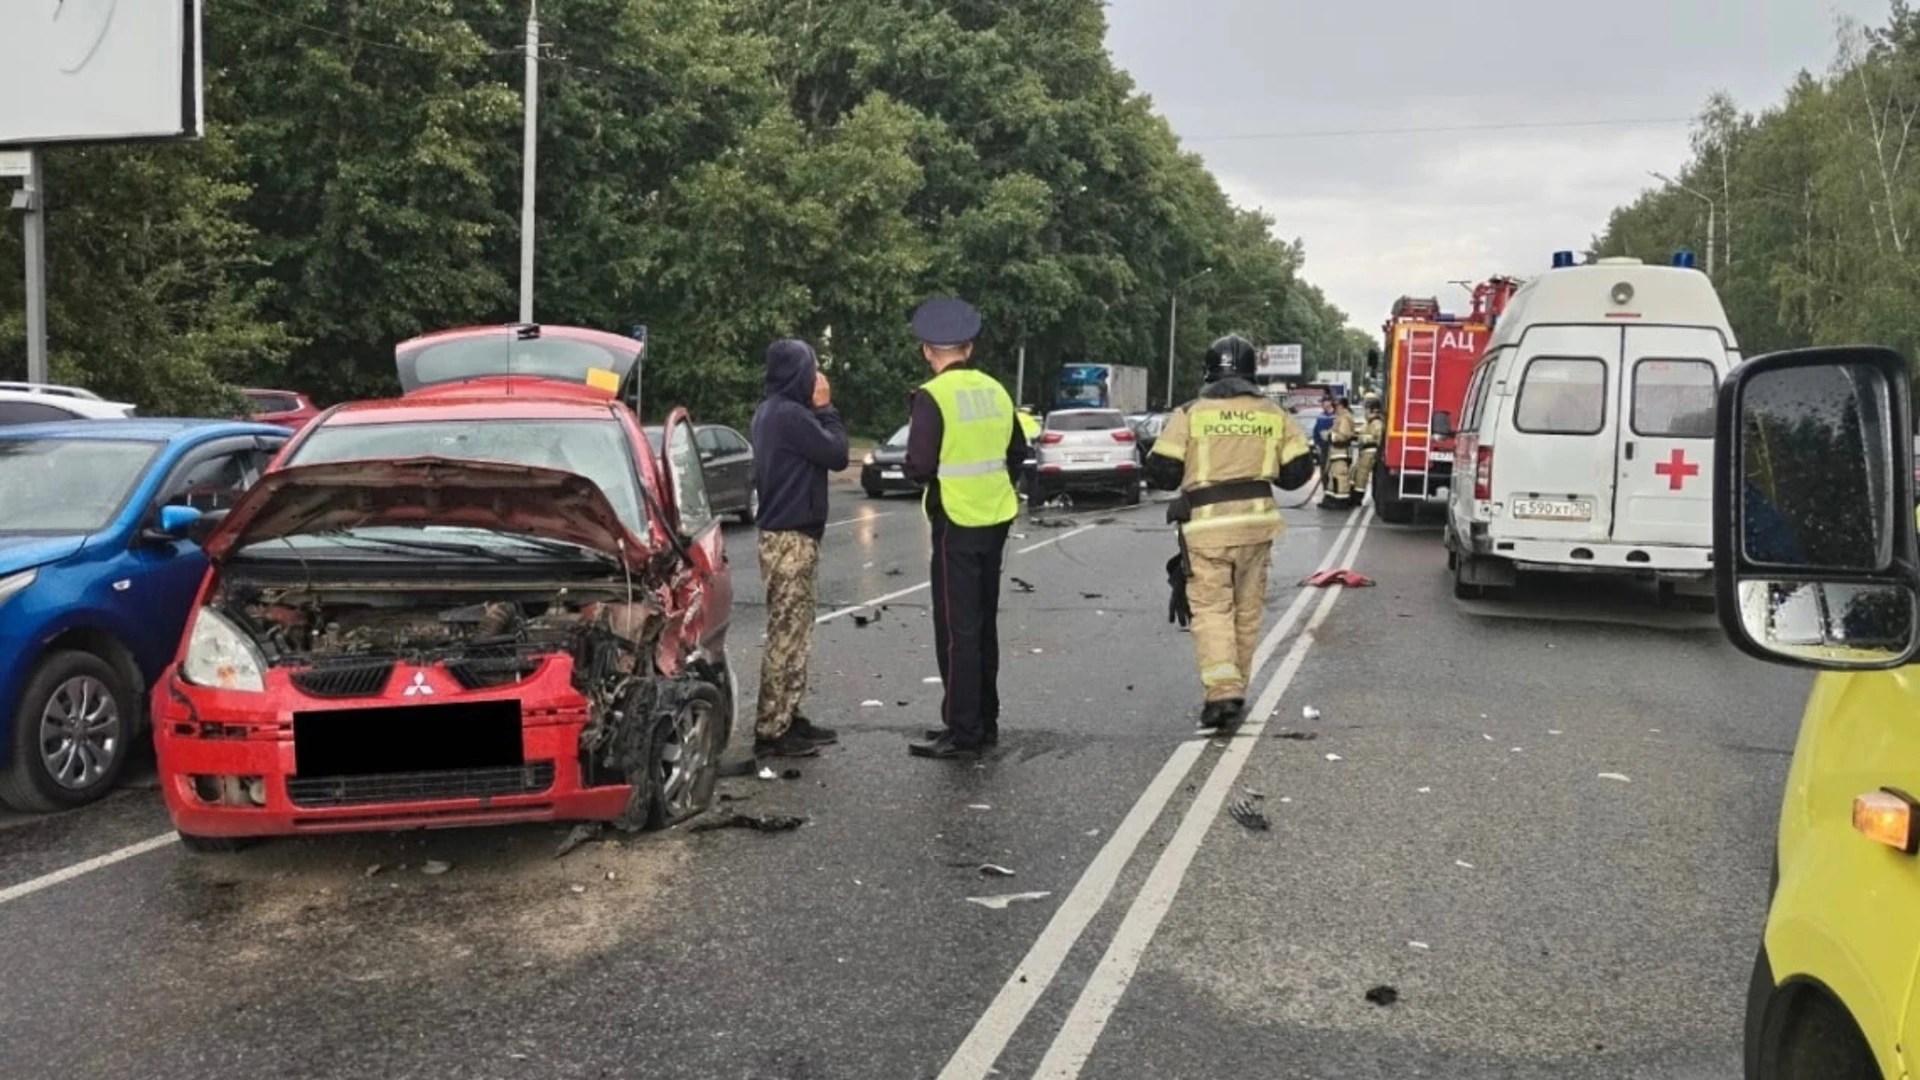
[[[83,734],[90,732],[88,753],[81,755],[83,774],[67,782],[56,778],[61,763],[50,761],[40,732],[46,723],[69,723],[65,717],[75,713],[79,719],[71,723],[81,724]],[[0,769],[0,803],[19,811],[50,813],[98,801],[113,790],[127,769],[138,717],[138,698],[111,663],[88,651],[50,653],[27,678],[27,688],[19,696],[8,765]],[[69,757],[65,767],[71,765]]]

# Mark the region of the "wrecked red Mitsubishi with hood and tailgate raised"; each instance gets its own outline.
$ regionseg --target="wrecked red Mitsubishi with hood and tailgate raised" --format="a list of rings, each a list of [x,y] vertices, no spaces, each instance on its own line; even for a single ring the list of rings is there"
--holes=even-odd
[[[707,809],[733,586],[693,425],[653,454],[636,356],[559,327],[405,342],[403,398],[328,409],[209,523],[154,690],[190,847]]]

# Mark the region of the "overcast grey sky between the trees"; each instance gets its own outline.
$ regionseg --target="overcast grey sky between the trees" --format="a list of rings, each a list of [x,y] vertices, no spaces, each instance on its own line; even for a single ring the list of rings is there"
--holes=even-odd
[[[1776,104],[1885,0],[1110,0],[1114,60],[1227,194],[1377,331],[1396,296],[1530,277],[1688,160],[1707,94]],[[1682,123],[1592,125],[1674,119]],[[1586,121],[1571,127],[1569,121]],[[1300,136],[1379,129],[1563,127]],[[1286,135],[1286,138],[1248,138]],[[1705,248],[1705,238],[1695,242]]]

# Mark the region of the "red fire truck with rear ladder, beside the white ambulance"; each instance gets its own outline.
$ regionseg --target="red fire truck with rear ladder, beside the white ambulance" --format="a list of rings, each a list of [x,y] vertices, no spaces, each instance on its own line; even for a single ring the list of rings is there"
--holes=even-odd
[[[1440,311],[1434,298],[1402,296],[1386,319],[1380,407],[1386,444],[1375,465],[1373,509],[1390,525],[1409,525],[1421,505],[1440,505],[1453,482],[1453,430],[1473,367],[1519,279],[1494,277],[1473,290],[1465,317]]]

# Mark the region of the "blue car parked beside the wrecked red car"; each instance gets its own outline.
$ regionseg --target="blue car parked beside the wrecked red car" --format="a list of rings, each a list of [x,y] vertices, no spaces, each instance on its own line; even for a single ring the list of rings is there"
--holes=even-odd
[[[169,419],[0,429],[0,801],[56,811],[113,788],[207,569],[196,540],[288,434]]]

